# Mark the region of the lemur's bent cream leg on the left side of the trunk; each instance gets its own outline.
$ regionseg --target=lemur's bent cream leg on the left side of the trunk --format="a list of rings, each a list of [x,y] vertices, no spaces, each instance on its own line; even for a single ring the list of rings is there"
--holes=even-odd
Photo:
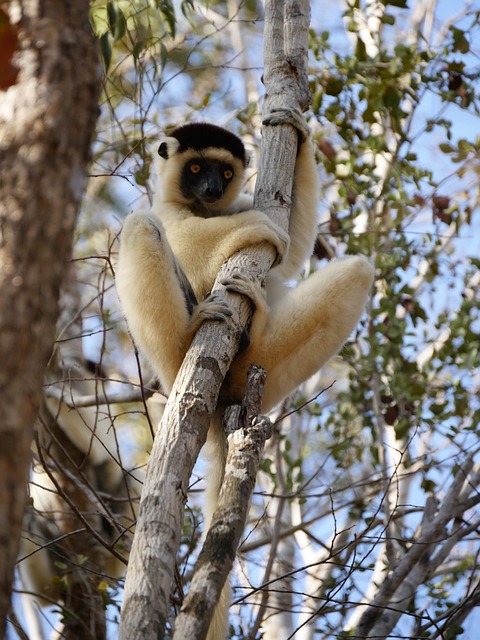
[[[120,238],[116,287],[129,329],[169,393],[195,331],[230,315],[213,296],[198,303],[153,215],[127,217]]]

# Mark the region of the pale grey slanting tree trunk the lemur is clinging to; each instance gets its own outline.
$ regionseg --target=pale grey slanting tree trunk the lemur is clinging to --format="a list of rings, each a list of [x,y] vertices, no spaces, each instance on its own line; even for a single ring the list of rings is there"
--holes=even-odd
[[[303,110],[308,105],[305,70],[309,17],[308,0],[269,0],[265,4],[268,109]],[[284,20],[289,23],[285,36]],[[284,37],[288,39],[285,48]],[[290,126],[267,127],[264,131],[255,202],[284,229],[288,228],[291,198],[280,198],[279,202],[278,194],[291,194],[295,167],[291,150],[296,144],[297,134]],[[263,280],[273,259],[274,252],[267,243],[236,254],[222,266],[213,291],[235,271],[246,271]],[[229,304],[239,322],[235,329],[229,323],[214,322],[200,327],[177,374],[155,436],[125,580],[120,640],[165,637],[189,478],[205,442],[223,378],[238,349],[241,328],[251,313],[241,296],[231,296]]]

